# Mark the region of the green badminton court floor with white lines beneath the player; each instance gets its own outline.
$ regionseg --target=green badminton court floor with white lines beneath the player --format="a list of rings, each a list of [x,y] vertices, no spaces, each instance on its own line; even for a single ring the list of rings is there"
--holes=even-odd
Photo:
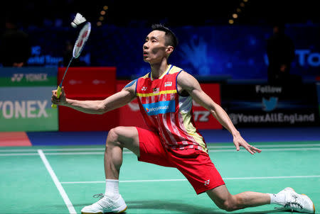
[[[320,141],[257,142],[260,154],[208,143],[230,193],[277,193],[290,186],[320,210]],[[0,147],[0,213],[80,213],[105,191],[103,145]],[[124,150],[119,191],[126,213],[228,213],[196,195],[176,169],[138,162]],[[272,213],[277,205],[232,213]],[[279,212],[274,212],[279,213]]]

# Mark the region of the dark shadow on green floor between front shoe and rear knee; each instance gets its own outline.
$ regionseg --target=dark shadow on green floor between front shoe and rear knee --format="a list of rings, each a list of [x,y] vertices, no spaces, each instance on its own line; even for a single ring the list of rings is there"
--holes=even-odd
[[[206,208],[201,205],[191,205],[188,203],[174,202],[174,201],[159,201],[159,200],[149,200],[149,201],[126,201],[128,205],[128,213],[134,213],[134,210],[139,209],[151,209],[159,210],[159,213],[164,213],[164,210],[178,211],[181,213],[217,213],[222,214],[218,208],[214,206],[212,208]]]

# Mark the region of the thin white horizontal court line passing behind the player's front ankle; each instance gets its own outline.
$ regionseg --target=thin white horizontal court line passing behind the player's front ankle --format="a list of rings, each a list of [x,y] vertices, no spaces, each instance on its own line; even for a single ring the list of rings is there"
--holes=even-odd
[[[223,178],[223,180],[307,179],[307,178],[320,178],[320,175],[238,177],[238,178]],[[120,183],[135,183],[135,182],[163,182],[163,181],[187,181],[187,179],[132,180],[132,181],[119,181],[119,182],[120,182]],[[105,183],[105,181],[70,181],[70,182],[60,182],[60,183],[61,183],[61,184],[96,184],[96,183]]]

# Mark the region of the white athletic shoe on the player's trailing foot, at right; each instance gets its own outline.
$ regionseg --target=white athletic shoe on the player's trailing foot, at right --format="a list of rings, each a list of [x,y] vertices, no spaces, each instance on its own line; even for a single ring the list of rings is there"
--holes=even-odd
[[[286,198],[284,208],[291,208],[292,211],[299,213],[315,213],[316,211],[314,203],[308,196],[296,193],[291,187],[284,188],[278,194],[284,194]]]

